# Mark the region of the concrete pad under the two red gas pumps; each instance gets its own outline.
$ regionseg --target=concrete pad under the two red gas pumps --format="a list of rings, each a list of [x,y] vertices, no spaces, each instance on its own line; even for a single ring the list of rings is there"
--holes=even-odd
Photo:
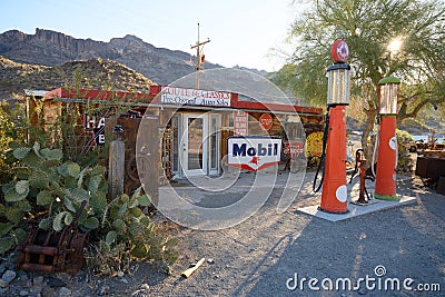
[[[404,205],[412,205],[416,201],[416,197],[411,196],[399,196],[399,201],[386,201],[386,200],[369,200],[368,205],[355,205],[350,201],[348,202],[347,214],[329,214],[318,209],[318,205],[298,208],[297,211],[305,212],[310,216],[315,216],[322,219],[338,221],[348,218],[354,218],[363,216],[366,214],[375,212],[383,209],[395,208]]]

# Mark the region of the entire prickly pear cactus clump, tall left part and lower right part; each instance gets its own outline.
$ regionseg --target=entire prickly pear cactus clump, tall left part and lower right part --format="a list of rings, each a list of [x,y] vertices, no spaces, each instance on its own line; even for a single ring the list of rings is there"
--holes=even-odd
[[[73,161],[63,161],[59,149],[41,148],[38,142],[32,147],[17,143],[13,147],[18,170],[16,178],[2,187],[4,204],[0,204],[0,216],[9,222],[0,225],[0,254],[19,242],[16,232],[28,218],[43,214],[39,217],[39,227],[61,231],[73,221],[86,200],[88,206],[79,217],[79,228],[96,230],[95,250],[105,258],[103,263],[90,259],[92,270],[115,271],[102,266],[119,264],[120,267],[121,263],[135,258],[166,266],[176,260],[176,241],[159,232],[157,225],[144,214],[141,208],[151,202],[147,195],[141,195],[140,188],[131,197],[123,194],[108,202],[102,167],[82,168]]]

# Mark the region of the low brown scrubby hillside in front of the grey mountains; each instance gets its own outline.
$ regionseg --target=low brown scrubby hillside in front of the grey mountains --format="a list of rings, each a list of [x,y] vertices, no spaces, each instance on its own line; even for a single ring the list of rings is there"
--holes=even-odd
[[[0,56],[0,99],[23,89],[52,90],[62,86],[142,91],[154,82],[137,71],[101,58],[48,67],[14,62]]]

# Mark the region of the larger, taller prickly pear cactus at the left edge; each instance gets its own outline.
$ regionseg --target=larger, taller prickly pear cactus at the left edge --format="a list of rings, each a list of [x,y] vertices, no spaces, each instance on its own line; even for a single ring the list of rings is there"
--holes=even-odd
[[[0,216],[11,226],[8,232],[2,232],[7,242],[4,250],[14,246],[8,238],[14,239],[11,231],[24,220],[43,214],[46,218],[40,227],[60,231],[72,222],[83,200],[90,206],[83,210],[79,227],[85,231],[99,227],[107,205],[103,168],[81,168],[76,162],[63,161],[60,149],[41,148],[39,142],[32,147],[13,142],[11,147],[17,158],[16,178],[3,185],[4,204],[0,204]]]

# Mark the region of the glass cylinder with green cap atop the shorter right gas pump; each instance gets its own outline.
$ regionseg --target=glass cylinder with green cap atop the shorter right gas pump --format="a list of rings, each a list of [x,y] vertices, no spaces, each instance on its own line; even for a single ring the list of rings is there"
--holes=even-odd
[[[396,77],[386,77],[378,81],[378,113],[397,115],[397,93],[400,80]]]

